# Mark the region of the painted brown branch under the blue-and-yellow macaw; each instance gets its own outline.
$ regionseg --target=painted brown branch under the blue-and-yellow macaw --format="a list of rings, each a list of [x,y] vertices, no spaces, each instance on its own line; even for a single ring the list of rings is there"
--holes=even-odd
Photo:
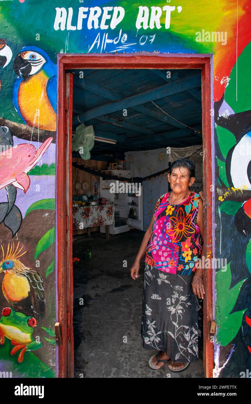
[[[38,129],[32,126],[18,124],[17,122],[9,121],[0,117],[0,125],[7,126],[12,135],[19,137],[19,139],[38,141]],[[51,130],[39,129],[39,141],[44,142],[48,137],[53,137],[52,143],[56,143],[56,132]]]

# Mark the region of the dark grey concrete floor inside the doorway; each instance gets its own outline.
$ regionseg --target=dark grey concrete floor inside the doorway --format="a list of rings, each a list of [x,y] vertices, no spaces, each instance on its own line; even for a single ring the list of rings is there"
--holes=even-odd
[[[148,366],[156,351],[143,349],[140,335],[143,259],[139,278],[130,277],[143,235],[131,230],[106,240],[104,234],[93,232],[73,242],[73,256],[80,258],[73,271],[75,377],[204,377],[201,359],[181,373],[171,372],[167,364],[160,370]],[[91,250],[90,261],[83,260],[86,249]]]

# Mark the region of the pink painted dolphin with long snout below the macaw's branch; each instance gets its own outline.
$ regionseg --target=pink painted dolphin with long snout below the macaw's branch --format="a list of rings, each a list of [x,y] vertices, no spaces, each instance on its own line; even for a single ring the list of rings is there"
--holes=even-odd
[[[13,184],[26,193],[30,186],[27,173],[37,164],[52,140],[53,137],[46,139],[38,150],[29,143],[22,143],[11,147],[8,151],[2,151],[0,153],[0,189]]]

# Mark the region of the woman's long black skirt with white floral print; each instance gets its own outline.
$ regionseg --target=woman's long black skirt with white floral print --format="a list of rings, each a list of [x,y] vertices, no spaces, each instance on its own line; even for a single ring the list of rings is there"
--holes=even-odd
[[[202,299],[193,275],[167,274],[146,263],[142,301],[143,347],[165,351],[179,362],[198,360]]]

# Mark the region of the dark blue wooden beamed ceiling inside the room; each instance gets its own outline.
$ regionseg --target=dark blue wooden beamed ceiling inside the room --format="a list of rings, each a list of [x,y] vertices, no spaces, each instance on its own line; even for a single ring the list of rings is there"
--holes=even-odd
[[[125,151],[202,143],[202,135],[194,131],[202,130],[200,70],[69,72],[74,74],[73,130],[81,121],[93,125],[96,136],[117,141],[116,145],[95,141],[91,158],[104,154],[123,158]]]

